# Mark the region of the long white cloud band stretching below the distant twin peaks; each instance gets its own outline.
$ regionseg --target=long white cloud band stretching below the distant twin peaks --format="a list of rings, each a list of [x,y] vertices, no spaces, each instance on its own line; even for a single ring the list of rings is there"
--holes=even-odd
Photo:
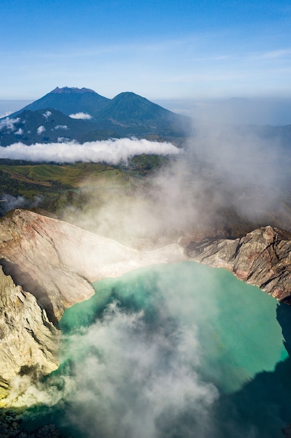
[[[145,139],[110,139],[87,143],[35,143],[31,146],[13,143],[0,148],[0,158],[28,160],[34,162],[106,162],[119,164],[127,162],[134,155],[157,154],[178,155],[181,149],[172,143],[159,143]]]

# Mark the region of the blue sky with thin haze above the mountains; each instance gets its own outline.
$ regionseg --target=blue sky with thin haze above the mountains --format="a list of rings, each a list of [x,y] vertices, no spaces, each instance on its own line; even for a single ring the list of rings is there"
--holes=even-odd
[[[1,0],[0,99],[291,97],[291,2]]]

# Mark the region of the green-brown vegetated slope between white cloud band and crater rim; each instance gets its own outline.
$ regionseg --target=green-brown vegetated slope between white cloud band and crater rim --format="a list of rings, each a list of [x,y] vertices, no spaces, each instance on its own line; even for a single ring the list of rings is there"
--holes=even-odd
[[[82,209],[88,200],[81,188],[96,187],[95,196],[114,192],[122,194],[142,184],[147,176],[167,159],[140,156],[130,167],[107,164],[43,164],[21,160],[0,160],[0,216],[16,207],[39,207],[50,213],[60,213],[68,205]],[[90,196],[90,195],[88,195]]]

